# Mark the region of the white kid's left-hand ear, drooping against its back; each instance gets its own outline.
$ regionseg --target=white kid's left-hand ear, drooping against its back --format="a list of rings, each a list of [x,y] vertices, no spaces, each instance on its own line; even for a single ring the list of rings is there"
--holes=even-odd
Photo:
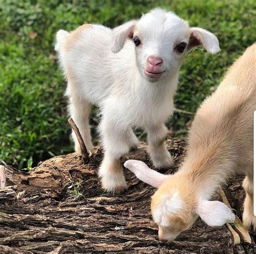
[[[117,53],[120,50],[122,50],[126,38],[130,38],[130,39],[133,38],[135,24],[136,24],[136,20],[131,20],[129,22],[124,23],[123,25],[117,26],[113,30],[112,47],[111,47],[111,51],[113,53]]]

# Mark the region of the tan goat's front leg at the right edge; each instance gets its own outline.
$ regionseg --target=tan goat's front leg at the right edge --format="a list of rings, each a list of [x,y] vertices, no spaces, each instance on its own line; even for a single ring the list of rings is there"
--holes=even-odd
[[[253,174],[245,177],[242,187],[246,193],[242,221],[247,229],[253,225],[253,230],[256,231],[256,216],[253,214]]]

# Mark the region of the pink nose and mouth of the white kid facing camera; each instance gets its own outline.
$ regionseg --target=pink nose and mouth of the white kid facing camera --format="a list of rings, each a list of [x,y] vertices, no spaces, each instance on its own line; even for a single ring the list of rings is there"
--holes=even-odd
[[[164,73],[163,70],[161,70],[162,65],[162,58],[151,55],[147,58],[145,75],[149,77],[161,77]]]

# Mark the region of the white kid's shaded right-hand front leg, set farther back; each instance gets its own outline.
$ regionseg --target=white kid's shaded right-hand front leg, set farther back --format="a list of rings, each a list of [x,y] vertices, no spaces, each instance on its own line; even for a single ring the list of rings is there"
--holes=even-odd
[[[169,168],[173,166],[173,159],[165,146],[167,128],[164,124],[150,126],[146,128],[148,151],[154,167]]]

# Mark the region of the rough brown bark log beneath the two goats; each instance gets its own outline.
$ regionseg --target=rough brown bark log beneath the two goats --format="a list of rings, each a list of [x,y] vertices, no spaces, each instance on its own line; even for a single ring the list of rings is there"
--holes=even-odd
[[[169,140],[167,146],[176,161],[171,173],[184,158],[185,142]],[[143,143],[123,161],[130,158],[152,166]],[[213,229],[200,219],[173,243],[160,243],[150,214],[154,188],[125,170],[127,191],[104,193],[97,177],[101,159],[99,149],[88,164],[72,153],[29,173],[7,167],[12,187],[0,192],[0,253],[256,253],[252,234],[252,244],[233,245],[226,225]],[[233,178],[223,188],[240,218],[241,180]]]

